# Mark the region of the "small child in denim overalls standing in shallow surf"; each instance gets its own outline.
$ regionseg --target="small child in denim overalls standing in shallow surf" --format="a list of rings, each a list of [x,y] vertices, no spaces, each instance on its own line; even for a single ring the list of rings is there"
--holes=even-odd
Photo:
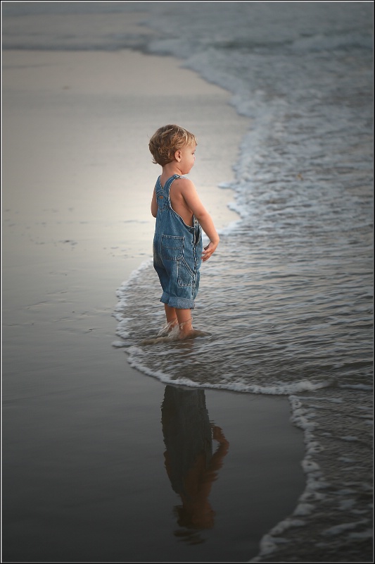
[[[156,180],[151,213],[156,218],[153,266],[158,273],[169,333],[178,326],[179,338],[191,338],[194,331],[191,309],[199,288],[199,269],[215,252],[219,235],[210,214],[198,197],[188,174],[195,161],[197,140],[178,125],[159,128],[148,144],[153,162],[162,173]],[[202,249],[201,228],[210,239]]]

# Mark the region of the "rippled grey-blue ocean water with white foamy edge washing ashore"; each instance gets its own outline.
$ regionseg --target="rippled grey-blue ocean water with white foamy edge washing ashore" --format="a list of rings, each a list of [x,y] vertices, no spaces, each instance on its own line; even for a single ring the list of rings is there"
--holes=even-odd
[[[10,2],[3,13],[4,48],[173,55],[250,118],[235,179],[217,188],[233,190],[239,219],[202,266],[193,312],[210,336],[142,344],[164,324],[150,259],[117,290],[113,345],[165,383],[288,397],[306,488],[253,561],[370,561],[372,2]],[[87,25],[68,34],[72,13]],[[122,34],[120,18],[137,14]],[[49,26],[30,34],[27,17]]]

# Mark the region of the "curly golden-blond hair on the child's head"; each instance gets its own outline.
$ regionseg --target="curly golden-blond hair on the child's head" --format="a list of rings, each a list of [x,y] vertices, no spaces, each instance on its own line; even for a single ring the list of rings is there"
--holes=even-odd
[[[179,125],[164,125],[150,139],[148,148],[153,163],[165,166],[174,160],[174,153],[186,145],[198,145],[196,136]]]

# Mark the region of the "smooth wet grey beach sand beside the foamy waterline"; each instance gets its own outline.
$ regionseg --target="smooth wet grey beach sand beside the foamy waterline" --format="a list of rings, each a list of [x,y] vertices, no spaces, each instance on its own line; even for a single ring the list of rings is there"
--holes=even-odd
[[[165,384],[111,345],[116,290],[151,257],[156,128],[197,135],[190,178],[218,228],[237,219],[217,184],[249,124],[229,99],[169,57],[3,51],[4,562],[246,561],[303,492],[287,398],[205,390],[229,451],[213,527],[181,527]]]

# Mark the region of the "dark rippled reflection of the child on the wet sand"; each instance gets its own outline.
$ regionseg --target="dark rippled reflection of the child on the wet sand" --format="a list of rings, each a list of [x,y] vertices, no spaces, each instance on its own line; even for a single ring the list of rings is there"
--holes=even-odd
[[[208,496],[229,443],[222,429],[210,423],[204,390],[166,386],[162,405],[165,468],[182,505],[177,522],[188,529],[175,532],[190,543],[203,542],[193,531],[210,529],[215,512]],[[212,454],[212,439],[219,445]]]

